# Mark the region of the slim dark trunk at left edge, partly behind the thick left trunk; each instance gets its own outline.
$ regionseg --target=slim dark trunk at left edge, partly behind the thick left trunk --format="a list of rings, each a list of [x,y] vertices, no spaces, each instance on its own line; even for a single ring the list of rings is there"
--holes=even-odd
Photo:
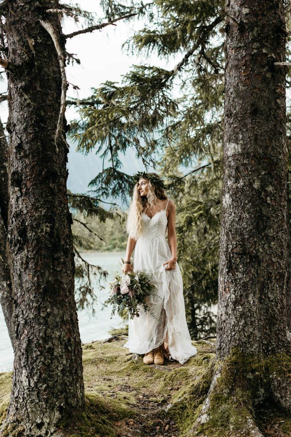
[[[0,304],[14,348],[14,301],[7,248],[8,203],[8,144],[0,120]]]

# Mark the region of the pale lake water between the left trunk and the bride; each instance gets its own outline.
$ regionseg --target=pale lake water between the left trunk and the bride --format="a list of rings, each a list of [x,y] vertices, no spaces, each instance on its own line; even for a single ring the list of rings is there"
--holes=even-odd
[[[95,264],[107,270],[109,276],[106,281],[102,281],[105,289],[96,288],[98,302],[95,304],[96,313],[92,316],[92,311],[78,311],[79,329],[82,343],[92,340],[103,340],[110,336],[109,331],[112,328],[121,328],[124,321],[115,315],[111,319],[111,307],[104,307],[102,303],[107,299],[109,288],[108,281],[112,279],[112,273],[120,271],[120,258],[124,257],[124,252],[82,252],[81,256],[90,264]],[[92,276],[92,282],[95,278]],[[0,371],[12,370],[13,368],[13,349],[8,336],[7,327],[0,308]]]

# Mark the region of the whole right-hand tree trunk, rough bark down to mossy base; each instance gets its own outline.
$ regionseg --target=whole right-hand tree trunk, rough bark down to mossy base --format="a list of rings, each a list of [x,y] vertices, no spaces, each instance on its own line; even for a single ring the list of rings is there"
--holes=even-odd
[[[228,410],[227,436],[261,436],[258,405],[291,411],[283,1],[226,0],[226,14],[217,362],[195,426]]]

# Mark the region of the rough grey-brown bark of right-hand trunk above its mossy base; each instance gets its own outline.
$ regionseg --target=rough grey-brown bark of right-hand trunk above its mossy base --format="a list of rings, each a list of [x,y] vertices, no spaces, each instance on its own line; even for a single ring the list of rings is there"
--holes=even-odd
[[[282,0],[226,1],[224,185],[217,357],[286,351]]]

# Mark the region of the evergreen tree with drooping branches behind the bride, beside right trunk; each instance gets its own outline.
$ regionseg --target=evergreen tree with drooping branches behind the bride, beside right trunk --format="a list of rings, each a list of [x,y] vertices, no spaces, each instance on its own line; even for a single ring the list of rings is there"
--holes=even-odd
[[[215,331],[211,305],[217,302],[226,12],[223,1],[202,0],[154,1],[153,11],[126,47],[133,55],[158,53],[171,65],[180,57],[178,63],[172,70],[133,66],[121,85],[107,82],[94,89],[81,102],[73,134],[80,151],[94,149],[111,160],[90,183],[98,196],[118,196],[121,186],[123,199],[128,198],[130,175],[122,172],[119,153],[135,147],[145,165],[156,158],[177,204],[189,328],[201,337]],[[285,11],[288,15],[288,4]],[[287,122],[290,129],[290,116]],[[291,286],[287,293],[291,296]]]

